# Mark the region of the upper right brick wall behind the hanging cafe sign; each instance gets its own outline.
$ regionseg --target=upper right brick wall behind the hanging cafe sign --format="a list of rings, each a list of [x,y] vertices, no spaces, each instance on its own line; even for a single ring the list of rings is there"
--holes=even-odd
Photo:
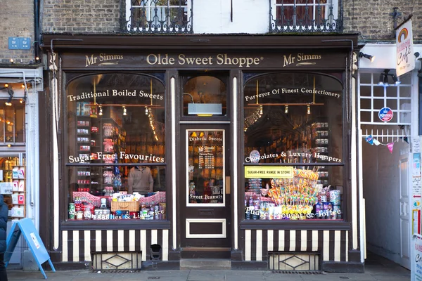
[[[345,32],[360,32],[366,40],[395,41],[392,8],[399,8],[403,18],[413,13],[412,30],[414,41],[422,41],[422,1],[421,0],[343,0]],[[412,12],[413,6],[413,12]]]

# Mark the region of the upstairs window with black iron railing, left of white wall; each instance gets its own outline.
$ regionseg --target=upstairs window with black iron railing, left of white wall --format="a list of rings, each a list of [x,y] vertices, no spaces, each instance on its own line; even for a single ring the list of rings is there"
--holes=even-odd
[[[192,30],[193,0],[122,0],[123,32],[186,34]]]

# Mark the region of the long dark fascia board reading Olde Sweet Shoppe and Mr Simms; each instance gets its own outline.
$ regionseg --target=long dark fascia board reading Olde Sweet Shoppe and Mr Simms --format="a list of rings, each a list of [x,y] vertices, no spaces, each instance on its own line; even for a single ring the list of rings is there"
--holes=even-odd
[[[210,69],[237,67],[241,69],[330,69],[343,68],[345,53],[329,51],[284,52],[284,53],[242,53],[227,51],[222,53],[66,53],[63,55],[63,69],[132,69],[151,68],[191,68]]]

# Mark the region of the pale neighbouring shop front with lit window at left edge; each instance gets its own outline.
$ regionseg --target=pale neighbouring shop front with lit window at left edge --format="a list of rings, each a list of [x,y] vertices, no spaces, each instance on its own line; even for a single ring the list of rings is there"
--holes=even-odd
[[[37,131],[41,91],[38,64],[0,67],[0,193],[9,209],[8,232],[13,221],[21,218],[31,218],[39,226]],[[25,263],[28,250],[19,239],[9,268],[30,268]]]

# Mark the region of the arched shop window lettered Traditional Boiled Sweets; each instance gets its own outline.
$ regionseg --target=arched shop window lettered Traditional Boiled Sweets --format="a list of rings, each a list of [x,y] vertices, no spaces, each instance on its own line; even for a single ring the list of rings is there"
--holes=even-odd
[[[66,98],[68,219],[166,219],[162,81],[87,75]]]

